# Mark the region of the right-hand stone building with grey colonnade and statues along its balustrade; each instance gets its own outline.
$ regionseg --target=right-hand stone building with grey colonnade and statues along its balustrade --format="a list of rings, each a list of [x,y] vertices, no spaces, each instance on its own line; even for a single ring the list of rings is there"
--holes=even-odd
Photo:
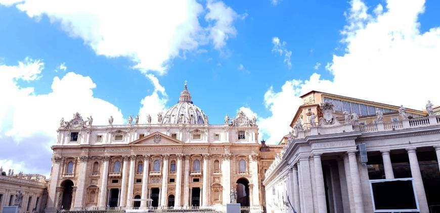
[[[373,212],[373,183],[404,180],[417,211],[439,210],[440,116],[430,102],[416,111],[316,91],[302,98],[263,181],[268,212]]]

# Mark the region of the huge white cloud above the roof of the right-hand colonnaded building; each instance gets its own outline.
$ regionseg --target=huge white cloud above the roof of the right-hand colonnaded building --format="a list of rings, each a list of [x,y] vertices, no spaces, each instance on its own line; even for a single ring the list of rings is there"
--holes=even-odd
[[[346,46],[326,68],[333,79],[313,74],[308,80],[286,81],[280,91],[270,87],[264,96],[270,117],[260,118],[261,133],[277,143],[290,130],[289,124],[301,104],[299,95],[311,90],[335,93],[422,110],[427,100],[440,104],[436,85],[440,79],[440,27],[420,31],[418,16],[424,1],[388,0],[386,9],[354,0],[345,14],[341,31]],[[274,38],[273,51],[284,52]]]

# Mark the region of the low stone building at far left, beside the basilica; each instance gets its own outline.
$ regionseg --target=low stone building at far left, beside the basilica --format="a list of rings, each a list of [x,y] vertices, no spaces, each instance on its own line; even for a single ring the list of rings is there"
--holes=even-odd
[[[43,212],[47,200],[46,177],[35,174],[3,171],[0,168],[0,213],[3,206],[12,206],[17,203],[20,213]],[[16,195],[21,194],[21,200],[16,200]]]

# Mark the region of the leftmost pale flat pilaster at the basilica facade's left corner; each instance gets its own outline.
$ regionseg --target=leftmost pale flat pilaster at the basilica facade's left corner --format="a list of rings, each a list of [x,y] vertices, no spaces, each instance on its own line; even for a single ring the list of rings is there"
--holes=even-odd
[[[57,203],[57,184],[58,184],[58,178],[60,177],[60,164],[61,164],[61,157],[53,157],[52,158],[52,174],[51,174],[51,181],[49,184],[49,190],[48,190],[48,205],[47,205],[47,211],[56,211],[56,203]],[[5,200],[9,197],[5,197]]]

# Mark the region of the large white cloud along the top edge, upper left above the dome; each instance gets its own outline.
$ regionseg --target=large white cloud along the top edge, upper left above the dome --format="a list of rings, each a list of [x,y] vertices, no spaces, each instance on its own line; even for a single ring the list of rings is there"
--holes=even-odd
[[[215,48],[235,36],[233,26],[239,15],[223,2],[208,1],[205,9],[195,0],[187,1],[100,1],[0,0],[16,6],[29,17],[47,16],[71,37],[81,38],[96,54],[127,57],[134,68],[163,74],[171,60],[185,51],[197,50],[212,40]],[[170,7],[172,5],[172,7]]]

